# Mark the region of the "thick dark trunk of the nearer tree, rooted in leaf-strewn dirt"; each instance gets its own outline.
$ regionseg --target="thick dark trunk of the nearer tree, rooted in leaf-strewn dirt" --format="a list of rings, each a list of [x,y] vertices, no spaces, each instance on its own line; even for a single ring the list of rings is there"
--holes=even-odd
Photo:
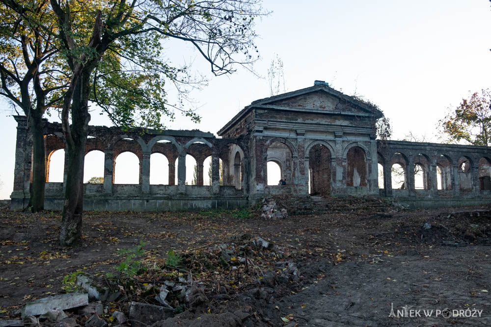
[[[60,245],[75,247],[82,244],[83,163],[85,143],[90,121],[88,112],[90,70],[81,73],[71,101],[72,125],[63,133],[67,139],[68,168],[63,217],[61,218]]]

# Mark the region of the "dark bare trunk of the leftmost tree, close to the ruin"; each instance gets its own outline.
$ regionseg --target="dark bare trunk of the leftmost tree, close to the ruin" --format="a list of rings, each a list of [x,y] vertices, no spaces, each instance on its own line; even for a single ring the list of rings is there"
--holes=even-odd
[[[42,115],[30,115],[29,125],[32,134],[32,182],[29,206],[31,212],[38,212],[44,209],[44,185],[46,182],[46,151]]]

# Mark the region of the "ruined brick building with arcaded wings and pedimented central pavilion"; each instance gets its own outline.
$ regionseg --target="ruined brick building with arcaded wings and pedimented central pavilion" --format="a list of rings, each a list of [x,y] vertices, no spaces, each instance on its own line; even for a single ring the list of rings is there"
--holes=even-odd
[[[235,208],[273,194],[380,195],[415,207],[491,201],[490,148],[380,141],[375,131],[380,117],[377,108],[316,81],[311,87],[252,102],[218,131],[219,137],[196,130],[142,134],[91,126],[86,152],[104,152],[104,184],[84,185],[84,209]],[[27,118],[15,119],[11,205],[22,208],[29,197],[32,143]],[[45,144],[48,181],[50,157],[65,147],[60,124],[46,122]],[[138,157],[138,184],[114,184],[115,158],[126,151]],[[153,153],[168,160],[166,185],[150,184]],[[185,183],[188,154],[196,160],[197,185]],[[212,185],[203,185],[203,162],[209,156]],[[286,185],[268,185],[270,161],[278,164]],[[403,175],[397,187],[392,183],[393,165],[399,165]],[[415,176],[421,179],[419,185]],[[62,208],[63,189],[62,182],[46,183],[46,209]]]

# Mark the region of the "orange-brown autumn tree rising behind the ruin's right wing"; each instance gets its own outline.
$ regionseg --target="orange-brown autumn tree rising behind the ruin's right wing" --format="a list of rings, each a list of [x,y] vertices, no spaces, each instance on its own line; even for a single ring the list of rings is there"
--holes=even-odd
[[[474,92],[469,99],[450,110],[438,121],[439,129],[450,143],[465,143],[489,146],[491,143],[491,94],[490,90]]]

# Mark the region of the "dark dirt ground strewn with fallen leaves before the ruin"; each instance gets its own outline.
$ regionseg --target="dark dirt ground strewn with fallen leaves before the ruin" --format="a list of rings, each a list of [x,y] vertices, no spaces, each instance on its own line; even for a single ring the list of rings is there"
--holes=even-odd
[[[276,201],[287,218],[262,218],[260,208],[86,212],[83,246],[76,249],[57,245],[60,212],[4,209],[0,319],[19,319],[23,303],[64,293],[62,278],[78,270],[117,273],[118,250],[144,241],[142,262],[154,269],[137,281],[148,286],[163,276],[177,278],[168,268],[166,275],[158,272],[173,250],[209,299],[176,314],[176,326],[237,309],[248,313],[244,326],[491,326],[490,207],[407,210],[371,198]],[[219,246],[249,249],[258,237],[274,247],[250,248],[250,266],[214,261]],[[298,271],[287,271],[281,265],[287,261]],[[278,277],[269,285],[261,282],[268,269]],[[145,300],[140,293],[108,303],[109,312]]]

